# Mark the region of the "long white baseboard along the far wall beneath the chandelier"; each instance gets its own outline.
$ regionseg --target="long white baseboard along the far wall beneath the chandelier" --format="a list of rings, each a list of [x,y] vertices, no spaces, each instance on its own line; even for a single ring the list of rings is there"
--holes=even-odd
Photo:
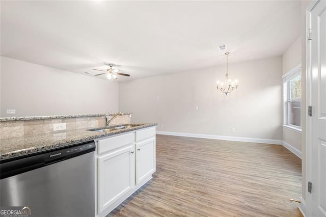
[[[210,134],[169,132],[169,131],[156,131],[156,134],[176,135],[177,137],[193,137],[193,138],[213,139],[213,140],[227,140],[227,141],[236,141],[236,142],[282,145],[282,140],[259,139],[259,138],[248,138],[248,137],[229,137],[226,135],[210,135]]]

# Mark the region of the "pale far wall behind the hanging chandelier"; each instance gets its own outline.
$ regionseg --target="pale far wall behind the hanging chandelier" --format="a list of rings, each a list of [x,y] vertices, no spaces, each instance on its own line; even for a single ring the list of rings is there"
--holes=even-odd
[[[119,108],[132,111],[133,122],[158,123],[160,131],[281,140],[282,57],[230,64],[230,78],[239,79],[239,89],[228,96],[216,90],[225,69],[120,83]]]

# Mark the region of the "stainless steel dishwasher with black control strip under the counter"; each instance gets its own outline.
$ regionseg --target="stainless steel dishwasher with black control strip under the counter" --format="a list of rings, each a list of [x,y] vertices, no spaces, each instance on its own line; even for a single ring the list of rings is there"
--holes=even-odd
[[[0,161],[0,206],[32,216],[95,215],[95,143]]]

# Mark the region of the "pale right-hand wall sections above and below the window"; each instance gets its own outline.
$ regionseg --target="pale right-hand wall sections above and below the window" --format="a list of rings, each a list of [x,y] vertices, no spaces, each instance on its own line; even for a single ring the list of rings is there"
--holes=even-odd
[[[282,56],[283,74],[301,63],[301,40],[302,37],[298,37],[293,42],[293,44],[284,52]],[[302,150],[301,132],[296,132],[287,127],[283,127],[283,141],[290,144],[299,151]]]

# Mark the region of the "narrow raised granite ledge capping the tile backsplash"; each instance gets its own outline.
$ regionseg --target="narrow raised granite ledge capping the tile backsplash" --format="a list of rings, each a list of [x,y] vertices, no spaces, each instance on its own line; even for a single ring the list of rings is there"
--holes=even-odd
[[[115,115],[117,113],[109,112],[108,115]],[[83,118],[83,117],[96,117],[105,116],[106,114],[87,114],[87,115],[52,115],[52,116],[30,116],[30,117],[5,117],[0,118],[0,121],[30,121],[30,120],[44,120],[44,119],[57,119],[57,118]],[[123,115],[131,115],[132,113],[122,113]]]

